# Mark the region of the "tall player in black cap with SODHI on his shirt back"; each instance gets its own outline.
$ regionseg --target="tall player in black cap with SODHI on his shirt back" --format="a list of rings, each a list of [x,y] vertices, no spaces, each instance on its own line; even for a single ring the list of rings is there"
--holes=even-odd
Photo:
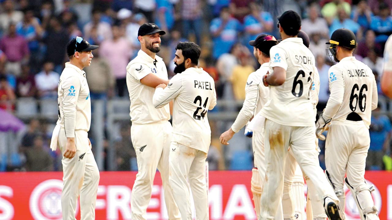
[[[318,163],[315,148],[314,115],[310,90],[317,71],[314,56],[297,38],[301,18],[286,11],[279,18],[283,41],[270,49],[269,73],[263,77],[271,86],[271,99],[261,109],[265,120],[266,177],[261,195],[260,219],[274,219],[283,193],[283,175],[289,146],[304,173],[316,186],[329,219],[340,219],[338,198]]]

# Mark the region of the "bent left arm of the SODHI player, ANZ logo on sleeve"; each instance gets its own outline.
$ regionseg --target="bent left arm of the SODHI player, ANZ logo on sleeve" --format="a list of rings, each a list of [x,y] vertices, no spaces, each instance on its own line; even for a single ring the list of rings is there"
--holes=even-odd
[[[270,49],[269,72],[263,77],[264,85],[280,86],[286,81],[287,56],[283,49],[274,46]]]

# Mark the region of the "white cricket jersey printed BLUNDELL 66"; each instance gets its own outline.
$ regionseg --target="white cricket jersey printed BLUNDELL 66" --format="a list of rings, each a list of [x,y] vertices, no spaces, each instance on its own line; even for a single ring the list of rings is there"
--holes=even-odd
[[[372,110],[377,107],[376,79],[372,70],[354,56],[343,58],[328,70],[329,96],[324,115],[345,121],[356,112],[369,128]]]

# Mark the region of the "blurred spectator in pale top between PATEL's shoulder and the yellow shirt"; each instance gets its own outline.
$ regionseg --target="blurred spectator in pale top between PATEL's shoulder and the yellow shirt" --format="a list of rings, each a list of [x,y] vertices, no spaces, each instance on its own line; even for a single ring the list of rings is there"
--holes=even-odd
[[[232,89],[228,83],[233,73],[233,68],[238,64],[238,55],[243,46],[240,43],[234,44],[229,53],[222,54],[216,61],[216,68],[219,73],[219,83],[215,85],[216,95],[225,99],[232,98]]]

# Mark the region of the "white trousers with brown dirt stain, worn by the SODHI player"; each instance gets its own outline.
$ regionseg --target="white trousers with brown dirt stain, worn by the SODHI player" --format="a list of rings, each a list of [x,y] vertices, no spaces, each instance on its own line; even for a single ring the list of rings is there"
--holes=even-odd
[[[264,148],[267,168],[261,195],[261,220],[275,219],[283,194],[283,177],[290,144],[293,157],[316,186],[318,195],[322,198],[330,197],[339,203],[319,166],[317,151],[314,150],[315,132],[314,126],[286,126],[266,119]]]

